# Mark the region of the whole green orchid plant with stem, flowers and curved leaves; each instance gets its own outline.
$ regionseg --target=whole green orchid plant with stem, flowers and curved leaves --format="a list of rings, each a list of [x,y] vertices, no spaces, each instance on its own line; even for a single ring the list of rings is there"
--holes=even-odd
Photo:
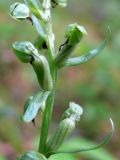
[[[107,144],[112,138],[112,129],[102,143],[97,146],[74,150],[60,150],[65,139],[75,129],[76,123],[83,114],[83,109],[75,102],[69,103],[69,108],[63,113],[55,133],[48,138],[51,116],[54,106],[57,75],[64,67],[78,66],[97,56],[105,48],[109,40],[109,28],[102,44],[89,53],[70,58],[75,47],[87,35],[83,26],[77,23],[70,24],[66,28],[64,43],[60,45],[55,53],[55,35],[52,31],[51,9],[56,6],[65,7],[67,0],[24,0],[24,3],[14,3],[10,6],[10,15],[18,21],[30,20],[31,25],[38,32],[34,44],[29,41],[14,42],[13,52],[23,63],[29,63],[40,85],[40,91],[28,98],[25,103],[22,121],[34,122],[36,116],[41,112],[42,126],[38,151],[27,151],[21,155],[19,160],[47,160],[53,154],[78,153],[97,149]]]

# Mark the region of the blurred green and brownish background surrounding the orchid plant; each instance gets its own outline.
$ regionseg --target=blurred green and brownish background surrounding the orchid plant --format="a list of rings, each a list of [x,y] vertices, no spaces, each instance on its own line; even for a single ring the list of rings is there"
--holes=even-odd
[[[11,50],[14,41],[36,38],[35,28],[16,22],[9,16],[14,0],[0,0],[0,160],[15,160],[29,149],[37,149],[40,116],[36,127],[23,124],[20,115],[25,100],[39,90],[30,65],[20,63]],[[77,155],[59,155],[51,160],[119,160],[120,159],[120,0],[71,0],[67,8],[52,10],[56,51],[64,41],[69,23],[83,25],[87,32],[73,56],[97,47],[111,28],[106,49],[79,67],[64,68],[59,73],[56,101],[50,134],[60,121],[69,101],[84,108],[76,131],[64,145],[89,147],[100,142],[110,130],[109,117],[115,123],[112,141],[102,149]],[[63,147],[64,147],[63,146]]]

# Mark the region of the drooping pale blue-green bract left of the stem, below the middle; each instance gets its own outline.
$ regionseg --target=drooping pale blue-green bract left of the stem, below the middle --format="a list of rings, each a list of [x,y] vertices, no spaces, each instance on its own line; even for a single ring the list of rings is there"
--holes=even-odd
[[[38,92],[35,96],[30,97],[24,106],[24,114],[23,114],[23,121],[24,122],[31,122],[35,119],[37,113],[39,112],[43,104],[46,102],[47,97],[49,96],[49,91],[41,91]]]

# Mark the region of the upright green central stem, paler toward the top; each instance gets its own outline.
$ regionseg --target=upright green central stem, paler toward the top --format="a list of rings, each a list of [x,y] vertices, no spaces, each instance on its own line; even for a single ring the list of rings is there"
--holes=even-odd
[[[50,8],[47,7],[50,6],[51,1],[46,1],[46,14],[48,16],[48,22],[46,23],[46,31],[47,31],[47,40],[48,40],[48,55],[50,60],[50,70],[51,70],[51,76],[53,80],[53,90],[51,91],[51,94],[49,95],[45,111],[43,114],[42,119],[42,128],[41,128],[41,135],[40,135],[40,143],[39,143],[39,149],[38,151],[42,154],[45,154],[46,150],[46,141],[48,137],[48,130],[51,122],[51,116],[53,111],[53,104],[54,104],[54,96],[55,96],[55,85],[56,85],[56,68],[55,68],[55,52],[54,52],[54,39],[53,32],[52,32],[52,23],[51,23],[51,14],[50,14]]]

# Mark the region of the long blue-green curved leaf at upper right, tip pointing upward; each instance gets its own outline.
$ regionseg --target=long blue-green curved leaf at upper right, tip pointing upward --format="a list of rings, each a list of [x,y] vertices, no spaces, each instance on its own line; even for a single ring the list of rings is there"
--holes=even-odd
[[[77,66],[77,65],[80,65],[82,63],[85,63],[85,62],[91,60],[92,58],[94,58],[95,56],[100,54],[103,51],[103,49],[106,47],[106,45],[108,44],[109,35],[110,35],[110,29],[108,28],[106,38],[105,38],[104,42],[98,48],[93,49],[92,51],[90,51],[86,55],[82,55],[80,57],[75,57],[75,58],[68,59],[63,64],[63,66],[68,66],[68,67]]]

